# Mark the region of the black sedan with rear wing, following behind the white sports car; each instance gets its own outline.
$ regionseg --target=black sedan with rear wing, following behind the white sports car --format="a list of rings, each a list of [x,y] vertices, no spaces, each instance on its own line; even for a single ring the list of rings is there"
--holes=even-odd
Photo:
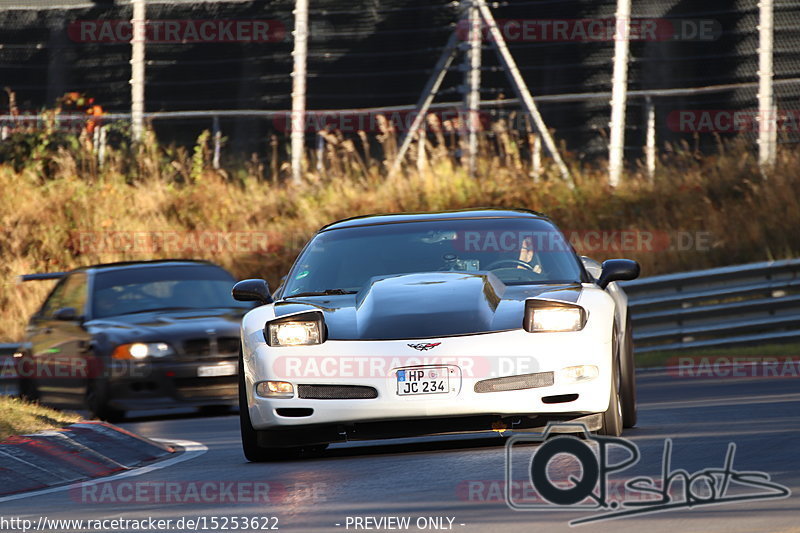
[[[24,397],[106,420],[237,402],[239,324],[252,306],[231,298],[223,268],[130,262],[22,279],[59,279],[15,355]]]

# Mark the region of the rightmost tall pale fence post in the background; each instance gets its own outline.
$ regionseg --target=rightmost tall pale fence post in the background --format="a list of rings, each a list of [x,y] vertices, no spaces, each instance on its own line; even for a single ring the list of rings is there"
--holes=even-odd
[[[772,87],[772,51],[774,41],[773,2],[758,3],[758,163],[765,173],[775,165],[777,132]]]

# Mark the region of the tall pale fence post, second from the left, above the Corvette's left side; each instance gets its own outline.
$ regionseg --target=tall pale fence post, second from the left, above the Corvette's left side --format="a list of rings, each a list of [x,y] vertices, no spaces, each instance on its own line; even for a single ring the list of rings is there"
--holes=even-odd
[[[306,56],[308,54],[308,0],[294,5],[294,70],[292,71],[292,180],[303,176],[306,122]]]

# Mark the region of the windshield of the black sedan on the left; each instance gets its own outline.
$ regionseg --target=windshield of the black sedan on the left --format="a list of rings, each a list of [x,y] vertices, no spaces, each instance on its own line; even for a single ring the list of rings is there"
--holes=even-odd
[[[234,281],[227,271],[203,264],[101,270],[94,277],[92,316],[252,307],[231,297]]]

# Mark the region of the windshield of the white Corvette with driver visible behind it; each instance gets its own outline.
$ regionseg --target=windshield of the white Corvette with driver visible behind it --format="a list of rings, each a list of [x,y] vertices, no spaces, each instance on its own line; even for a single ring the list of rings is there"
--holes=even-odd
[[[582,268],[547,220],[442,219],[341,228],[316,235],[298,257],[283,297],[358,291],[373,278],[491,271],[506,284],[578,283]]]

